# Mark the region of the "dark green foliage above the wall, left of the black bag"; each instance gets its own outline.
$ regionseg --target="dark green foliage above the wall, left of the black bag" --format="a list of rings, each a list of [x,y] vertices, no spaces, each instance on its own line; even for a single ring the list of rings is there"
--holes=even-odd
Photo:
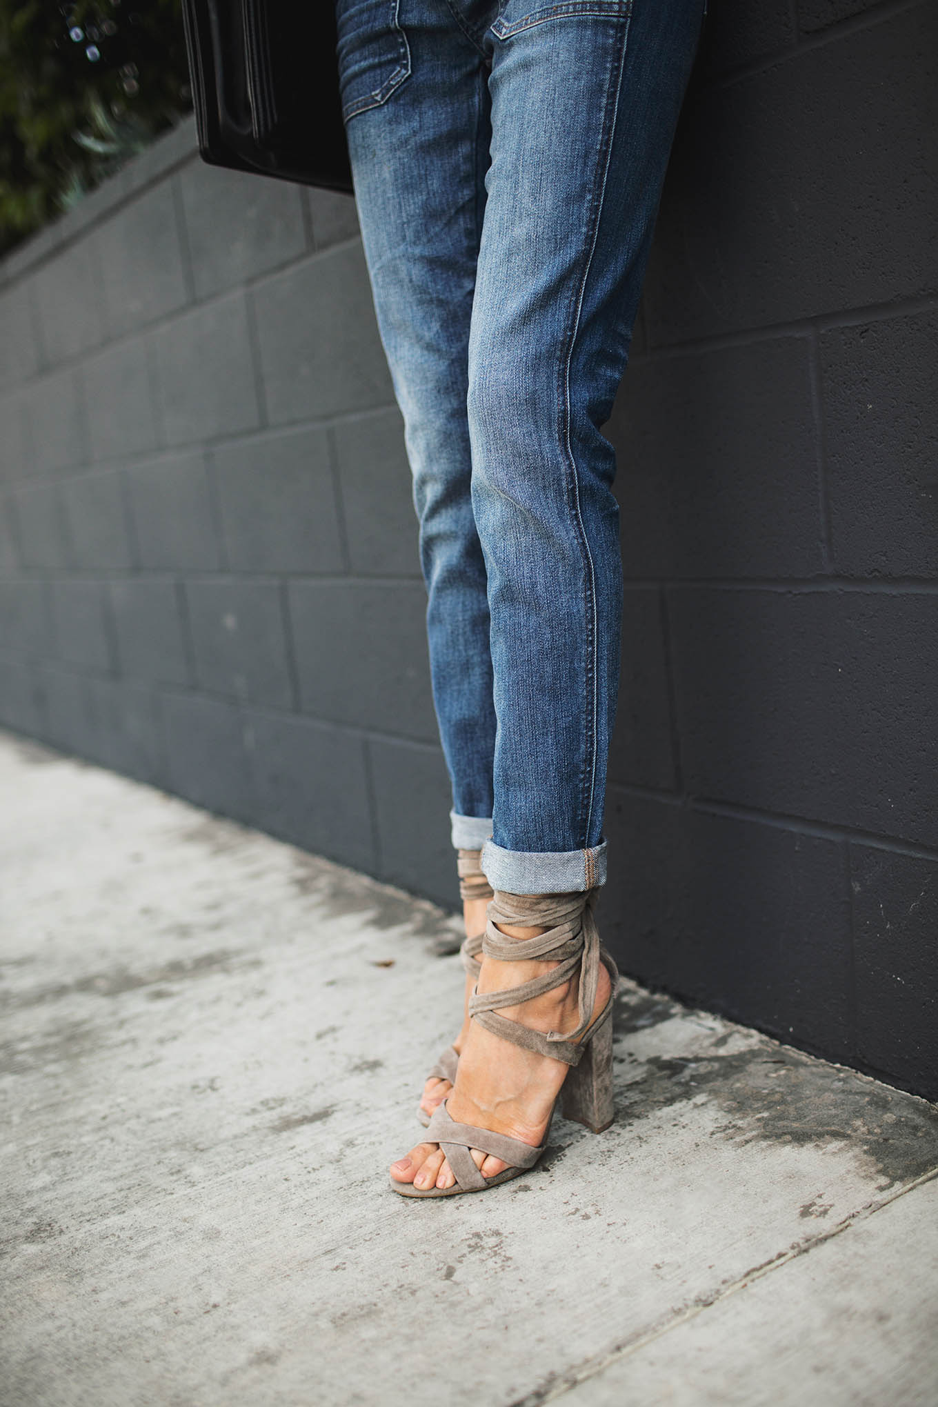
[[[180,0],[0,0],[0,253],[190,106]]]

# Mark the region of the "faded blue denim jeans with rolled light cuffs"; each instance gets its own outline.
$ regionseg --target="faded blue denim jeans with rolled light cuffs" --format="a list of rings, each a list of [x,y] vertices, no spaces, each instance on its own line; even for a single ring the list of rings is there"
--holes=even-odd
[[[453,844],[605,882],[622,559],[602,433],[705,0],[336,0],[428,587]]]

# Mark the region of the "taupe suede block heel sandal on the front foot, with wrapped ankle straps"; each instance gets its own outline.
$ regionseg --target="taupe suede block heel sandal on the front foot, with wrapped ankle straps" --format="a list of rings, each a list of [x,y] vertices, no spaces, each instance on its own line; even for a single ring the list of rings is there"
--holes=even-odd
[[[553,971],[544,972],[543,976],[533,978],[530,982],[523,982],[520,986],[487,992],[484,996],[478,996],[474,989],[470,999],[470,1016],[485,1030],[501,1036],[502,1040],[512,1041],[515,1045],[537,1051],[539,1055],[548,1055],[570,1067],[554,1102],[541,1144],[534,1148],[520,1138],[510,1138],[508,1134],[499,1134],[491,1128],[456,1123],[447,1112],[447,1102],[443,1100],[426,1126],[426,1141],[440,1145],[456,1178],[456,1185],[453,1188],[420,1189],[412,1183],[395,1182],[391,1178],[391,1186],[402,1197],[453,1197],[463,1192],[487,1192],[502,1182],[519,1178],[541,1158],[557,1104],[561,1106],[565,1119],[584,1124],[595,1134],[612,1124],[615,1117],[612,1010],[619,972],[610,954],[599,943],[592,912],[596,892],[596,889],[588,889],[585,893],[548,893],[537,899],[526,896],[518,905],[510,902],[513,895],[499,893],[488,906],[488,926],[482,938],[485,957],[495,958],[498,962],[533,960],[558,964]],[[495,927],[496,923],[530,927],[547,924],[548,927],[539,937],[516,940],[499,933]],[[600,964],[609,972],[612,992],[602,1012],[593,1020],[592,1009],[596,1000]],[[548,1031],[544,1036],[541,1031],[499,1014],[498,1007],[501,1006],[520,1006],[534,996],[541,996],[544,992],[561,986],[577,968],[579,968],[579,1021],[575,1031],[568,1036]],[[484,1178],[473,1161],[471,1148],[501,1158],[509,1166],[494,1178]]]

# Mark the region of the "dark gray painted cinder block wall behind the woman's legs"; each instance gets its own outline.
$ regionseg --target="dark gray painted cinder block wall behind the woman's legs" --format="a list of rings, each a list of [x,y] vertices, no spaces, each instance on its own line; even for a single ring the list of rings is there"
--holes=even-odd
[[[624,969],[938,1096],[938,11],[712,0],[610,433]],[[0,267],[0,719],[456,903],[349,198],[190,122]]]

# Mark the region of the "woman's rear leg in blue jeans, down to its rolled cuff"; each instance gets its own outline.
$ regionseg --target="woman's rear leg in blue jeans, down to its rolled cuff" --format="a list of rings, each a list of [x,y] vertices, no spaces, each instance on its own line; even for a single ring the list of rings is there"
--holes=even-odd
[[[465,398],[488,70],[447,0],[338,0],[336,18],[361,236],[413,471],[451,839],[478,850],[492,833],[495,711]]]

